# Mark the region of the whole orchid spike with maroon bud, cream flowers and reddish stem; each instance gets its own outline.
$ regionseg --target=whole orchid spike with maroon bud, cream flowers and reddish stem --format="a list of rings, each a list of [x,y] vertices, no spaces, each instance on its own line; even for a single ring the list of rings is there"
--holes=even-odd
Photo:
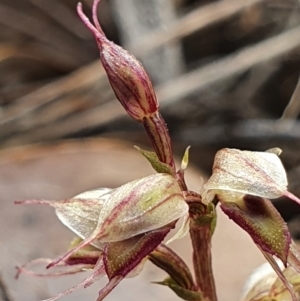
[[[184,179],[188,149],[176,170],[171,139],[151,81],[140,62],[104,35],[97,19],[99,2],[94,0],[93,4],[94,25],[84,15],[80,3],[78,14],[95,36],[102,65],[117,99],[133,119],[144,125],[154,152],[137,149],[156,173],[116,189],[96,189],[71,199],[17,202],[54,207],[60,221],[77,236],[63,256],[46,260],[47,268],[67,270],[46,275],[92,269],[81,283],[47,301],[107,276],[109,281],[97,299],[103,300],[122,279],[137,275],[147,259],[169,274],[158,283],[168,286],[182,299],[216,301],[210,247],[217,204],[250,235],[277,275],[271,288],[264,286],[261,292],[261,287],[255,286],[244,301],[297,301],[300,255],[287,225],[269,200],[287,196],[300,203],[287,190],[286,173],[279,159],[281,151],[222,149],[215,156],[211,177],[199,187],[200,193],[189,191]],[[180,218],[182,227],[173,239],[190,232],[195,279],[182,259],[163,244]],[[29,264],[36,262],[40,260],[19,267],[18,275],[41,275],[28,269]]]

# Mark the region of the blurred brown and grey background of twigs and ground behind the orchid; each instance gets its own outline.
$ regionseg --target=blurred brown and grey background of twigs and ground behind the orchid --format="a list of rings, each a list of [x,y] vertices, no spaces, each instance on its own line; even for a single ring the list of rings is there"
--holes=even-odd
[[[35,301],[67,287],[62,279],[13,280],[15,265],[57,256],[71,238],[51,209],[17,207],[13,200],[70,197],[152,172],[131,147],[149,147],[147,138],[115,100],[76,4],[0,0],[0,273],[10,295],[0,285],[3,301]],[[91,4],[83,2],[88,16]],[[300,74],[298,0],[102,0],[98,15],[107,36],[144,63],[176,155],[192,145],[195,190],[219,148],[277,146],[290,190],[300,195],[300,88],[293,95]],[[298,207],[275,204],[300,237]],[[242,283],[263,260],[249,238],[219,216],[219,297],[238,300]],[[187,243],[174,245],[190,262]],[[110,300],[176,299],[149,284],[164,277],[157,273],[149,264]],[[65,300],[94,300],[97,285]]]

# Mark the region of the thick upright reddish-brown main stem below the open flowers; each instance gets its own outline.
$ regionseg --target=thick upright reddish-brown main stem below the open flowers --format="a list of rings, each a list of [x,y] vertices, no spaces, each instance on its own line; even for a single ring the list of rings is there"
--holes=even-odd
[[[190,221],[190,235],[193,246],[193,264],[196,283],[209,301],[217,301],[215,281],[212,272],[211,227]]]

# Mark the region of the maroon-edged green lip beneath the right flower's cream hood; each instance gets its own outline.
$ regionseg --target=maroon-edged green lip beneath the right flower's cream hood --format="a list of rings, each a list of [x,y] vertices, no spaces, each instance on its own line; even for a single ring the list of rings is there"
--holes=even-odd
[[[265,252],[286,265],[291,243],[287,225],[268,199],[240,193],[217,195],[222,210],[244,229]]]

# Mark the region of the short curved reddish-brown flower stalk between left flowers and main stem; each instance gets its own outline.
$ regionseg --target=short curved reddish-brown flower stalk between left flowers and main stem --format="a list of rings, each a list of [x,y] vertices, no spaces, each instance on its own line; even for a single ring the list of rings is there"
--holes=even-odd
[[[173,281],[185,289],[193,289],[194,281],[185,262],[170,248],[160,244],[150,255],[149,260],[166,271]]]

